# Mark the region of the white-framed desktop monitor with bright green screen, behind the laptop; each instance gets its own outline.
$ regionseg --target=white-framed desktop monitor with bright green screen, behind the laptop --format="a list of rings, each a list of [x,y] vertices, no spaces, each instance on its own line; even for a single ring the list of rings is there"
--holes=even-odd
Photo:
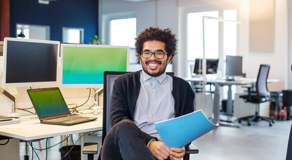
[[[101,88],[104,71],[128,71],[129,47],[61,44],[60,87]]]

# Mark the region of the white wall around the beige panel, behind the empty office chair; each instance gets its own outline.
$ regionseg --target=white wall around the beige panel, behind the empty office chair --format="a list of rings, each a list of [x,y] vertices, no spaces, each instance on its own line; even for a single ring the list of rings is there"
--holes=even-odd
[[[287,85],[287,49],[288,49],[288,22],[287,1],[275,0],[275,50],[273,53],[249,53],[248,50],[248,21],[249,1],[239,1],[239,20],[244,24],[239,25],[239,55],[243,56],[243,71],[249,78],[256,77],[260,64],[270,64],[269,79],[279,79],[277,83],[269,83],[270,91],[285,89]]]

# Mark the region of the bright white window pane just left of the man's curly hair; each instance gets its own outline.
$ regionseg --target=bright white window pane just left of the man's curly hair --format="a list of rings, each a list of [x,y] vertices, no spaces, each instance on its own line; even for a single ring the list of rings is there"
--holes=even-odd
[[[136,18],[109,21],[109,44],[135,48]]]

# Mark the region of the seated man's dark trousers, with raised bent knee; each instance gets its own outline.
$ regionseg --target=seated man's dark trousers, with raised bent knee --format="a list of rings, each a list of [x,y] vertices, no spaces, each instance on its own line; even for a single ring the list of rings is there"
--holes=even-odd
[[[145,145],[143,132],[131,120],[122,120],[109,130],[100,156],[102,160],[155,160]]]

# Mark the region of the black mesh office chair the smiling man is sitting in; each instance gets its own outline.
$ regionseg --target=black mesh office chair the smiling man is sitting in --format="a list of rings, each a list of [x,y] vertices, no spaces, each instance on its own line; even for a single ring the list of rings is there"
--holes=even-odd
[[[112,88],[114,85],[114,80],[122,74],[131,73],[131,72],[104,72],[104,83],[103,83],[103,116],[102,116],[102,143],[105,139],[107,132],[111,129],[109,122],[109,101],[112,93]],[[173,72],[167,72],[168,74],[174,75]],[[184,160],[190,159],[190,154],[199,153],[199,150],[195,145],[191,143],[189,147],[185,150]]]

